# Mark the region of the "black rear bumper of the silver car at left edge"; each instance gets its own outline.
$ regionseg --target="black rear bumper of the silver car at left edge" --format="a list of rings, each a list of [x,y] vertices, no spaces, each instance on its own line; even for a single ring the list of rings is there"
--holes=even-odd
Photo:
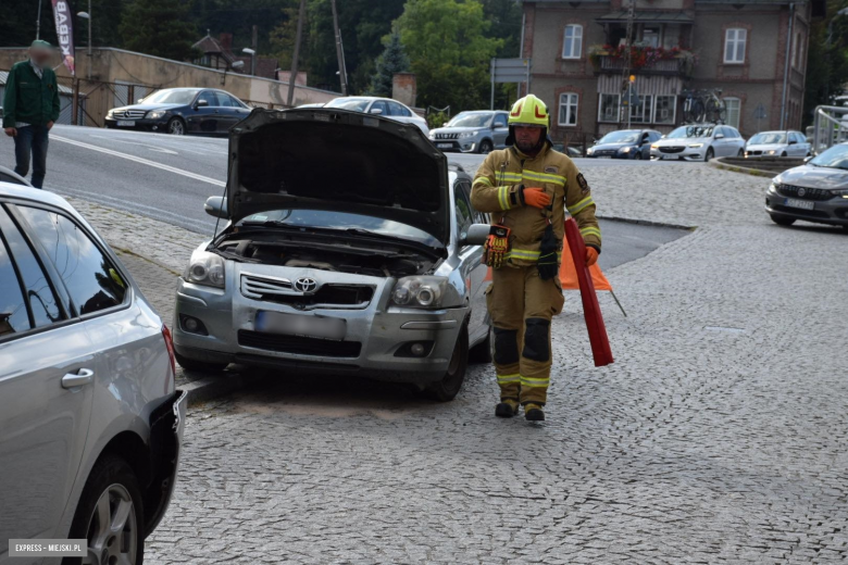
[[[152,508],[145,524],[149,536],[165,515],[174,493],[183,432],[186,427],[188,392],[176,390],[150,414],[150,453],[153,480],[145,490],[145,508]]]

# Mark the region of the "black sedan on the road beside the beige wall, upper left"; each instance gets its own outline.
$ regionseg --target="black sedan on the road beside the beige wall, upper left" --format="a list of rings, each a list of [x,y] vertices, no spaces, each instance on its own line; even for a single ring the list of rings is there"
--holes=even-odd
[[[226,135],[250,114],[251,108],[224,90],[166,88],[137,104],[113,108],[105,117],[110,128],[186,134]]]

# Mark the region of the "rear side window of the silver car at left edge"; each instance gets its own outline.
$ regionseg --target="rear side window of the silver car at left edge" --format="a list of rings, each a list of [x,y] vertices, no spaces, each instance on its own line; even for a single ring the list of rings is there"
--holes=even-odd
[[[88,236],[65,216],[18,206],[53,262],[76,311],[90,314],[124,301],[126,282]]]

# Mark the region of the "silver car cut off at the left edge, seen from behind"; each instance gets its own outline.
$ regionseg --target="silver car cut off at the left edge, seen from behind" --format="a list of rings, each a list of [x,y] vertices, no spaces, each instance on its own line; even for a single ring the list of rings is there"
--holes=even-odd
[[[87,539],[136,565],[167,508],[186,399],[169,329],[62,198],[0,183],[0,563]]]

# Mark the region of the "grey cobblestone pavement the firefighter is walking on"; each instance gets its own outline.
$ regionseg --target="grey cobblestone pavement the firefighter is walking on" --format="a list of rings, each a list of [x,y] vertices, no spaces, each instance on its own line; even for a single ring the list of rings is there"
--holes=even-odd
[[[484,365],[448,404],[267,373],[190,413],[148,561],[848,561],[848,236],[771,225],[762,178],[676,168],[587,168],[604,215],[700,228],[608,273],[611,366],[569,292],[548,422],[495,418]]]

